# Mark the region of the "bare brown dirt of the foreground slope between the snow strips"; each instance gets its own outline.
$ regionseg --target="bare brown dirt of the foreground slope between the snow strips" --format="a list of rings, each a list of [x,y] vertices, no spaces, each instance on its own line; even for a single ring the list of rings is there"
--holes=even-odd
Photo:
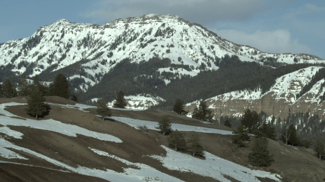
[[[7,102],[25,103],[26,98],[0,99],[0,104]],[[58,97],[47,97],[46,102],[55,104],[75,104],[73,101]],[[157,131],[150,130],[148,133],[145,133],[119,121],[106,120],[103,122],[101,118],[95,116],[95,109],[88,109],[90,112],[84,112],[73,108],[62,108],[59,105],[50,104],[50,107],[51,110],[49,114],[40,120],[53,118],[60,122],[74,124],[91,131],[114,135],[123,142],[106,142],[80,134],[78,134],[77,137],[73,137],[53,131],[24,126],[9,126],[13,130],[22,132],[24,134],[22,139],[14,139],[3,133],[0,133],[0,136],[6,138],[6,140],[15,145],[36,151],[73,167],[84,166],[102,170],[111,169],[117,172],[123,172],[124,168],[135,167],[128,166],[114,158],[100,156],[90,150],[90,148],[93,148],[108,152],[109,154],[134,163],[145,163],[157,170],[185,181],[215,181],[215,179],[210,177],[204,177],[190,172],[169,170],[159,161],[143,157],[147,155],[166,154],[166,151],[161,148],[160,145],[168,146],[168,137],[163,136]],[[7,111],[22,118],[34,119],[26,114],[24,108],[24,105],[11,106],[7,108]],[[197,120],[168,111],[112,110],[112,115],[147,121],[159,121],[161,116],[168,115],[172,123],[231,130],[225,126],[204,124]],[[184,134],[187,138],[190,132],[184,132]],[[199,135],[206,151],[243,166],[249,166],[247,162],[249,148],[237,149],[235,145],[231,143],[230,135],[213,133],[199,133]],[[269,149],[270,152],[274,154],[274,164],[269,167],[256,169],[278,173],[283,177],[283,181],[320,181],[325,178],[325,162],[313,156],[312,150],[293,148],[276,141],[269,142]],[[60,168],[46,160],[22,151],[15,152],[29,160],[6,159],[0,157],[0,161],[26,164],[0,163],[0,181],[104,181],[100,178],[67,171],[67,169]],[[252,168],[254,169],[254,167]],[[236,181],[231,177],[229,178]],[[272,180],[261,178],[261,181]]]

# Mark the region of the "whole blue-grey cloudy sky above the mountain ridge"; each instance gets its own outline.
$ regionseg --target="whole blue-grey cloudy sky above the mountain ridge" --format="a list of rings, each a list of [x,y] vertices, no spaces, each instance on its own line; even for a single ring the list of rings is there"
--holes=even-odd
[[[59,19],[104,24],[152,13],[177,15],[264,52],[325,59],[322,0],[2,0],[0,42],[28,37]]]

